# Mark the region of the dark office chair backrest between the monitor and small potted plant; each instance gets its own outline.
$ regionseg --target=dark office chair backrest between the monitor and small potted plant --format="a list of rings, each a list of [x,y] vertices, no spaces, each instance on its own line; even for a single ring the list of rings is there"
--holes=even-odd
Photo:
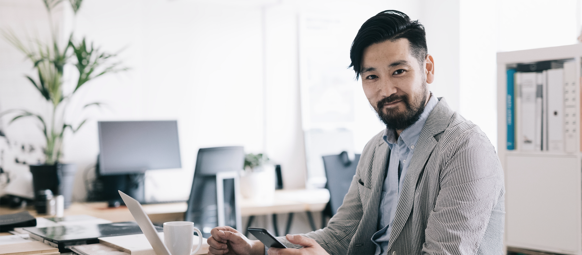
[[[240,194],[238,177],[235,178],[229,173],[237,174],[243,166],[243,147],[230,146],[198,150],[184,220],[194,222],[194,227],[200,229],[205,238],[210,236],[210,230],[218,227],[218,224],[229,225],[236,229],[241,225],[240,205],[237,204],[237,197]],[[222,189],[219,191],[217,188]],[[223,203],[219,204],[219,201]]]

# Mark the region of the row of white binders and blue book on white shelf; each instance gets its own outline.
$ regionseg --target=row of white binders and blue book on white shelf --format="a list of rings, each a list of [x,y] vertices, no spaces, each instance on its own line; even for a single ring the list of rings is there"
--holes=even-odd
[[[580,89],[576,63],[517,64],[507,70],[507,149],[576,152],[580,144]]]

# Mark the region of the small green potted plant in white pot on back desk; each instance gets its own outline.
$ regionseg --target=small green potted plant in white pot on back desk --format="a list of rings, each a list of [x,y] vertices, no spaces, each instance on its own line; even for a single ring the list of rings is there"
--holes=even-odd
[[[262,153],[249,153],[244,157],[244,170],[240,175],[240,193],[247,199],[273,200],[275,196],[275,166]]]

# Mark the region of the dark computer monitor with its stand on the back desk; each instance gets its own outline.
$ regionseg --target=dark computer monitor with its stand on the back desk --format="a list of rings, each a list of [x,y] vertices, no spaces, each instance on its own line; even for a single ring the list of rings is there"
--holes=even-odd
[[[102,199],[111,205],[122,202],[118,190],[145,202],[145,170],[182,167],[178,121],[98,121],[97,125],[98,178]]]

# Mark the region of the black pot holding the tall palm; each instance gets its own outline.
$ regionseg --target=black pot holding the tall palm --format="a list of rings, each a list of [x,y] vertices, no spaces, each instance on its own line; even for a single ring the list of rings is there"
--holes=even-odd
[[[38,191],[50,189],[54,195],[63,195],[65,208],[71,204],[73,195],[74,175],[77,172],[75,164],[30,165],[33,174],[34,198]]]

